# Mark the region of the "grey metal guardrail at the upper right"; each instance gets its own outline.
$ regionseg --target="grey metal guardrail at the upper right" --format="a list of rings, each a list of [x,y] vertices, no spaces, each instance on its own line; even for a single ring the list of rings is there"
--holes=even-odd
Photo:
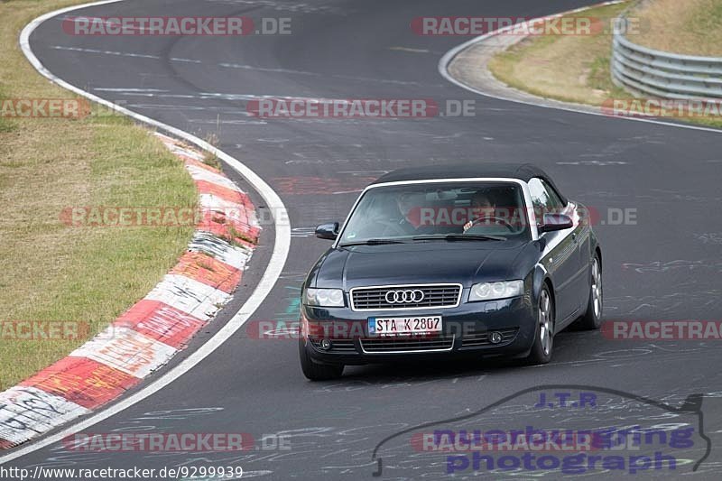
[[[722,58],[653,50],[630,42],[624,31],[616,29],[612,47],[616,85],[651,97],[722,98]]]

